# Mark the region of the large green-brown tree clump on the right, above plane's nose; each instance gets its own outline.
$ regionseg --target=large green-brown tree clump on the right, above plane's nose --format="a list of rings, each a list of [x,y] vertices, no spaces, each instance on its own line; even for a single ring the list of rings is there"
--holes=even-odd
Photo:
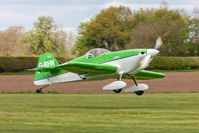
[[[161,36],[162,56],[199,56],[199,10],[192,15],[183,10],[110,7],[88,22],[81,23],[74,53],[84,54],[94,47],[109,50],[153,48]]]

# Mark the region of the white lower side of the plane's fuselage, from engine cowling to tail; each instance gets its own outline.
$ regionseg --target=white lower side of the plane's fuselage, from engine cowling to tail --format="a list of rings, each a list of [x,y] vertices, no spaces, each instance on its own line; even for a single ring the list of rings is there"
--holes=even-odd
[[[108,79],[111,77],[114,77],[118,73],[129,73],[132,71],[136,71],[139,67],[139,62],[141,59],[143,59],[143,55],[135,55],[135,56],[130,56],[118,60],[113,60],[110,62],[105,62],[102,64],[107,64],[107,65],[113,65],[118,67],[118,71],[114,74],[103,74],[103,75],[88,75],[86,76],[86,80],[98,80],[98,79]],[[82,75],[85,76],[85,75]],[[74,82],[74,81],[81,81],[84,80],[82,76],[76,74],[76,73],[63,73],[57,76],[49,77],[46,79],[41,79],[41,80],[35,80],[34,84],[35,85],[50,85],[50,84],[56,84],[56,83],[65,83],[65,82]]]

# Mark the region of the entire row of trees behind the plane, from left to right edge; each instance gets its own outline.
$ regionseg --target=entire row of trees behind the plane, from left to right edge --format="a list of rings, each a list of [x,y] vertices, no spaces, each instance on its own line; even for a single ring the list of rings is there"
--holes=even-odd
[[[97,47],[111,51],[153,48],[159,36],[164,42],[160,55],[199,56],[199,10],[196,8],[189,15],[183,10],[132,11],[125,6],[110,7],[81,23],[76,41],[52,17],[40,16],[28,31],[22,26],[0,31],[0,55],[51,52],[55,56],[74,57]]]

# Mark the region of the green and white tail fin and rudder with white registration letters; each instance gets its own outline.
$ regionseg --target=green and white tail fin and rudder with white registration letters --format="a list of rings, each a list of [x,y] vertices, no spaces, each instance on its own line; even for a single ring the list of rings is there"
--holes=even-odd
[[[35,85],[51,84],[48,78],[52,76],[51,71],[53,71],[53,68],[57,65],[59,65],[59,63],[57,62],[57,60],[51,53],[45,53],[45,54],[40,55],[36,72],[35,72],[34,84]],[[43,68],[46,68],[46,69],[43,69]]]

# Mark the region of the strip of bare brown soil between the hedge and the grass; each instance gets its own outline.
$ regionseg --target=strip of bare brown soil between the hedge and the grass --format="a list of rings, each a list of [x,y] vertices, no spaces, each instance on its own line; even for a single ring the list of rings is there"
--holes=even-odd
[[[0,92],[32,91],[38,89],[33,84],[33,75],[0,75]],[[114,81],[114,79],[104,81],[75,82],[55,84],[44,91],[58,91],[67,93],[113,93],[103,91],[101,88]],[[132,80],[125,80],[127,87],[132,86]],[[199,72],[166,72],[164,79],[138,81],[149,85],[151,92],[193,92],[199,91]],[[126,88],[127,88],[126,87]]]

